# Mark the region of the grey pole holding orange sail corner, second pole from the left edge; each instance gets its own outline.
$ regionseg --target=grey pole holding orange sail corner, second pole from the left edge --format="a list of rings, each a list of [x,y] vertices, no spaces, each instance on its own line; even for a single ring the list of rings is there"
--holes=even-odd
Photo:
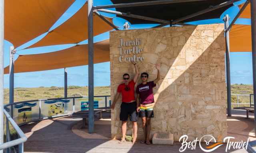
[[[10,47],[9,104],[14,103],[14,47]],[[12,115],[13,116],[13,115]]]

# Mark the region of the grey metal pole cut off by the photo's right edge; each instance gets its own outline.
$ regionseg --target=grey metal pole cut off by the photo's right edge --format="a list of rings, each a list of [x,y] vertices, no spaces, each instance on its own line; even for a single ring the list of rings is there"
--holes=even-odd
[[[251,28],[252,28],[252,76],[253,76],[253,102],[256,110],[256,0],[251,0]],[[254,130],[256,126],[256,111],[254,111]]]

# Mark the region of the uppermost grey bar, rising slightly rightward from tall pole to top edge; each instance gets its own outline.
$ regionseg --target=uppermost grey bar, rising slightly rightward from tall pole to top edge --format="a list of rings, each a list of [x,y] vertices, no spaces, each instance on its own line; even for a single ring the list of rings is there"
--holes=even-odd
[[[171,3],[181,3],[181,2],[195,2],[195,1],[205,1],[205,0],[158,0],[158,1],[148,1],[148,2],[134,2],[134,3],[124,3],[124,4],[113,4],[113,5],[102,5],[95,6],[95,9],[102,8],[125,8],[133,6],[149,6],[158,4],[171,4]]]

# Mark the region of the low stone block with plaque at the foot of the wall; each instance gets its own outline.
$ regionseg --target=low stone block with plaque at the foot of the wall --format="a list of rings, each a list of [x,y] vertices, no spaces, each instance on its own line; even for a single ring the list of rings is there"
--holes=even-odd
[[[172,133],[155,133],[152,138],[153,144],[172,145],[174,141]]]

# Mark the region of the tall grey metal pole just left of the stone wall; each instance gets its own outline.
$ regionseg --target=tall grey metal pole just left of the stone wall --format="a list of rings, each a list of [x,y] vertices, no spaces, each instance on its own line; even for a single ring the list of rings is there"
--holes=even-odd
[[[88,0],[88,98],[89,133],[94,132],[93,0]]]

